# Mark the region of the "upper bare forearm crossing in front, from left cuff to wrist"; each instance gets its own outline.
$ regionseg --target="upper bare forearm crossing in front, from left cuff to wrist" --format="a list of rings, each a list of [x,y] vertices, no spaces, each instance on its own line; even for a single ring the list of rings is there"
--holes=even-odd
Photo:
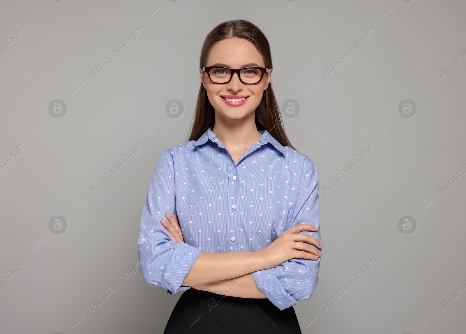
[[[200,284],[228,280],[245,275],[252,271],[268,269],[266,261],[256,252],[201,252],[182,286],[197,286]],[[252,269],[254,267],[254,270]]]

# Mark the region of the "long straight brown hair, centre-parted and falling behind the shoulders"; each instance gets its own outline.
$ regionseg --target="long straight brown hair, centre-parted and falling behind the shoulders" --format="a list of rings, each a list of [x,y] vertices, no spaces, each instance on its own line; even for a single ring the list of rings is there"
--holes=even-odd
[[[216,43],[229,38],[246,39],[253,43],[257,51],[262,55],[265,67],[272,68],[272,56],[267,38],[260,31],[260,28],[246,20],[226,21],[213,28],[204,40],[199,67],[207,66],[209,52]],[[206,88],[201,83],[189,140],[198,140],[209,127],[213,127],[214,123],[215,110],[207,97]],[[272,81],[268,84],[267,89],[262,95],[262,100],[256,108],[255,123],[258,131],[267,130],[282,146],[289,146],[295,149],[283,129],[280,107],[277,104],[277,100],[275,100]]]

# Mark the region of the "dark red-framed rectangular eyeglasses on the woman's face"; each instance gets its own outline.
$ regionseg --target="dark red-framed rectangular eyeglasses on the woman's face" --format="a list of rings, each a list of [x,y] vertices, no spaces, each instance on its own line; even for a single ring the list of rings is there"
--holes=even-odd
[[[213,83],[226,84],[233,78],[233,73],[238,73],[240,81],[246,85],[258,83],[265,73],[269,73],[270,68],[264,67],[244,67],[233,69],[228,67],[208,66],[202,67],[202,73],[206,72]]]

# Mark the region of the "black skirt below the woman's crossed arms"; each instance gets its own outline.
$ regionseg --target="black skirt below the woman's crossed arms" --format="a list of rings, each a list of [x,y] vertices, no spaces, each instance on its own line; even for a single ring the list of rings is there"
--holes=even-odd
[[[267,298],[223,296],[193,287],[183,292],[164,334],[302,334],[293,306],[280,310]]]

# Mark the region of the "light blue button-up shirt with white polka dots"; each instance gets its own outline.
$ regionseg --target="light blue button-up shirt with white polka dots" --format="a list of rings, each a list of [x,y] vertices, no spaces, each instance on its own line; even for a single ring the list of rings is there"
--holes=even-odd
[[[254,252],[296,224],[319,228],[314,163],[267,130],[260,134],[236,165],[212,127],[160,154],[137,242],[145,282],[169,294],[185,291],[191,287],[181,284],[201,251]],[[177,214],[184,242],[172,241],[160,224],[166,212]],[[300,233],[321,241],[320,228]],[[245,267],[243,274],[253,272],[260,290],[283,310],[311,297],[319,265],[320,258],[295,258],[267,270]]]

